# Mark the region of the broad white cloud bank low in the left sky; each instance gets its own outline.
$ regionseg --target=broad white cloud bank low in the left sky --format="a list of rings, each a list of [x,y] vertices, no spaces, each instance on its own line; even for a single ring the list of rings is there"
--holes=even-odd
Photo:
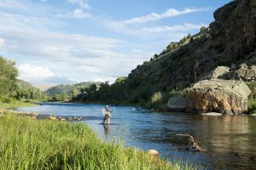
[[[44,28],[48,21],[40,23],[20,14],[0,13],[0,18],[4,23],[0,37],[6,39],[4,54],[15,54],[30,63],[19,66],[20,78],[29,82],[52,82],[54,73],[68,80],[113,82],[114,77],[126,75],[144,60],[114,51],[125,44],[116,39],[49,31]]]

